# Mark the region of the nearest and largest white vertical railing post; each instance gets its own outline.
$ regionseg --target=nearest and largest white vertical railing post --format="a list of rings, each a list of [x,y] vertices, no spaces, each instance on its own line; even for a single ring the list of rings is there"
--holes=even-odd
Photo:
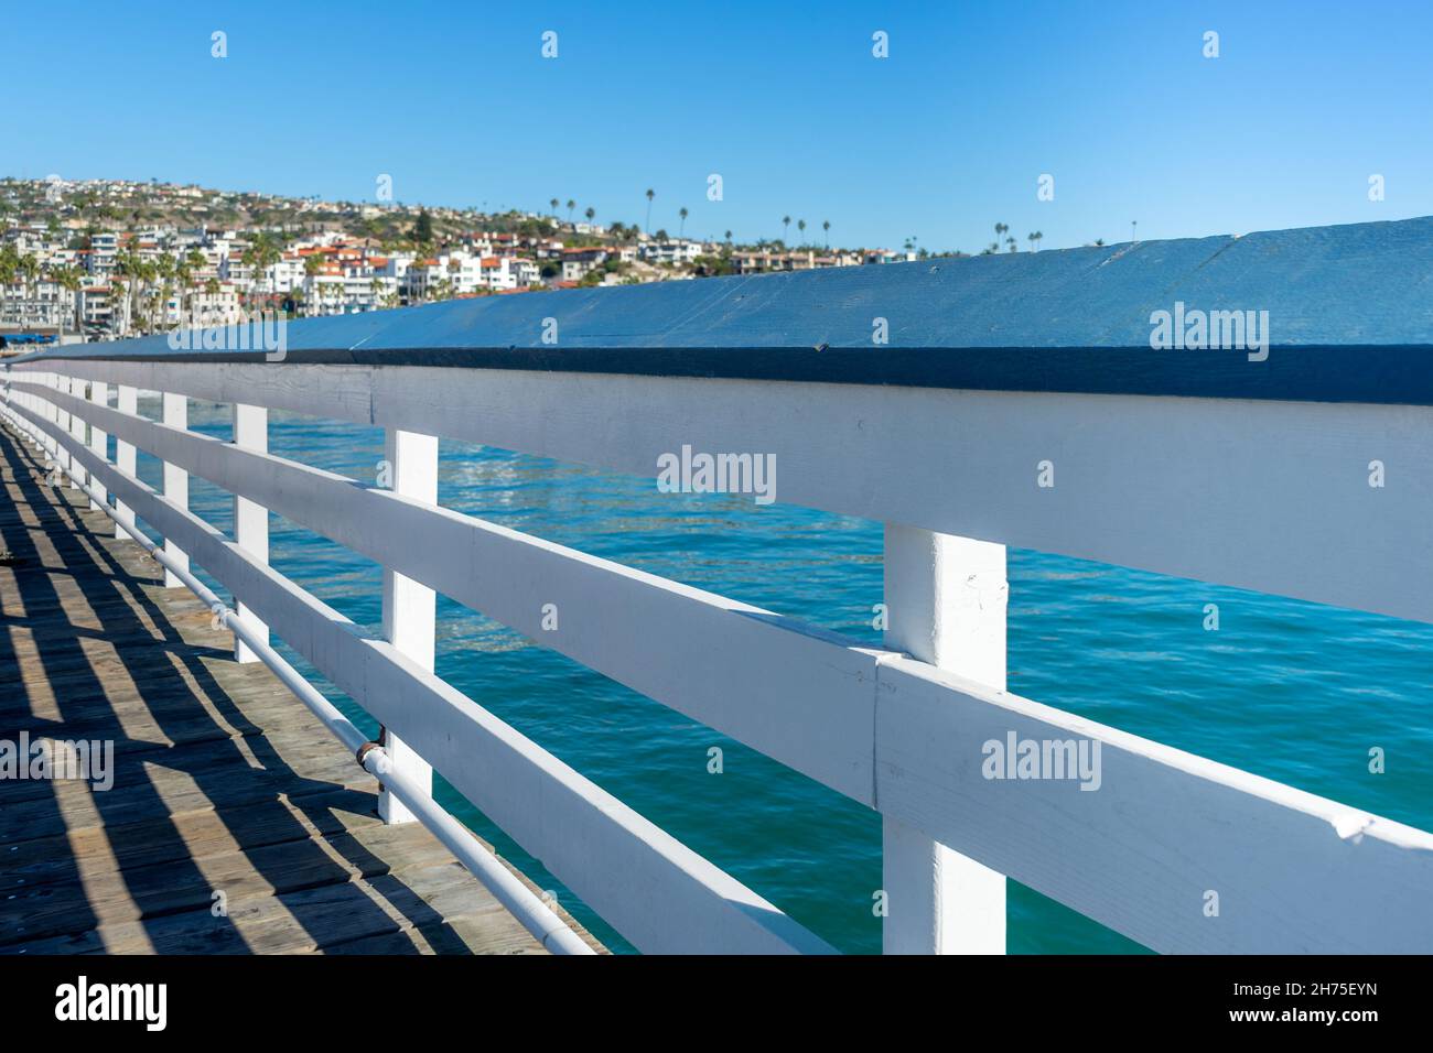
[[[886,524],[886,646],[1005,691],[1005,546]],[[979,761],[979,758],[976,758]],[[1005,954],[1005,875],[881,821],[886,954]]]

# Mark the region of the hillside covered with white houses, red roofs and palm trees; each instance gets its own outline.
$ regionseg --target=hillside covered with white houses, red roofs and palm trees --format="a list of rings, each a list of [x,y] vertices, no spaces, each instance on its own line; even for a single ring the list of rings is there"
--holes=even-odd
[[[651,202],[652,191],[648,191]],[[0,338],[119,340],[257,311],[312,317],[532,289],[929,255],[754,245],[552,212],[324,202],[130,181],[0,181]],[[685,226],[685,209],[682,225]],[[790,231],[791,219],[782,228]],[[823,225],[828,234],[830,223]]]

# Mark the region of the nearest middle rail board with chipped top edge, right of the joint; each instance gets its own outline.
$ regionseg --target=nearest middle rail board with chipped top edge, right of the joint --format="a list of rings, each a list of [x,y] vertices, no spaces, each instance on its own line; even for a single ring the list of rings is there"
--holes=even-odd
[[[907,658],[877,683],[883,815],[1146,947],[1433,953],[1433,834]],[[987,778],[1012,734],[1098,741],[1099,788]]]

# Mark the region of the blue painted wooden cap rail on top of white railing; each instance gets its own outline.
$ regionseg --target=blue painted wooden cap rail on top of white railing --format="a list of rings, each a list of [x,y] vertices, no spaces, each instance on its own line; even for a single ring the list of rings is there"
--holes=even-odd
[[[1152,312],[1178,304],[1267,311],[1268,358],[1154,350]],[[1433,216],[483,297],[295,321],[287,344],[285,362],[1429,405]],[[146,337],[16,361],[262,354]]]

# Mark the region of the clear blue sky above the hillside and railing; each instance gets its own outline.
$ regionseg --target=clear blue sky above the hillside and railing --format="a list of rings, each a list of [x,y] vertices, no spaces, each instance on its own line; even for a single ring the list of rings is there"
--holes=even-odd
[[[203,7],[0,3],[0,175],[967,252],[1433,213],[1427,0]]]

